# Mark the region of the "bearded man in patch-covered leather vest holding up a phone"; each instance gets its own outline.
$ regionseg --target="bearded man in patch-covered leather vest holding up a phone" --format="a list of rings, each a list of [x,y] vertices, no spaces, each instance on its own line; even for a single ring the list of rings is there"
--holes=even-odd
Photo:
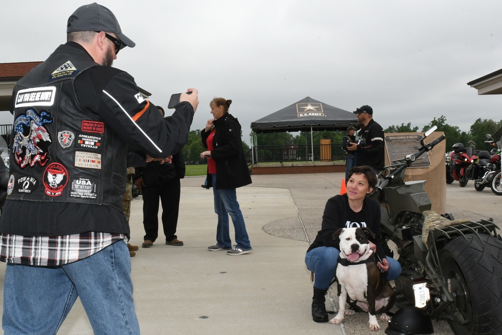
[[[135,43],[96,3],[70,16],[67,40],[13,91],[2,323],[6,333],[55,333],[78,296],[94,333],[139,334],[122,213],[126,171],[181,150],[197,90],[163,119],[133,77],[111,67]]]

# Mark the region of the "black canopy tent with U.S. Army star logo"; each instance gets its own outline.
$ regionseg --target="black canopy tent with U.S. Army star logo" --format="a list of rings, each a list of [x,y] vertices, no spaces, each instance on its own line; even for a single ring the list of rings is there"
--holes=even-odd
[[[310,131],[312,143],[312,133],[314,131],[344,131],[348,126],[356,124],[357,117],[350,111],[331,106],[307,96],[275,113],[252,122],[252,145],[257,146],[257,133]],[[312,151],[313,146],[312,143]]]

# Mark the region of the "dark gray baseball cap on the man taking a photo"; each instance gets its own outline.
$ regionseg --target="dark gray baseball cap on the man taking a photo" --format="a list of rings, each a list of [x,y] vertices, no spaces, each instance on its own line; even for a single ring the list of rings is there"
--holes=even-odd
[[[120,25],[113,13],[106,7],[96,3],[80,6],[68,18],[66,32],[80,31],[114,33],[124,45],[130,48],[136,45],[129,37],[122,34]]]

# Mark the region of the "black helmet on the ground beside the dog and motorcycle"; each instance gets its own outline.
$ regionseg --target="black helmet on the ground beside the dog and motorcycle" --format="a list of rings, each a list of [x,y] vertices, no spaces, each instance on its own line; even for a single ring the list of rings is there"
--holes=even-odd
[[[415,306],[406,306],[398,310],[385,329],[388,335],[432,334],[432,320],[425,310]]]

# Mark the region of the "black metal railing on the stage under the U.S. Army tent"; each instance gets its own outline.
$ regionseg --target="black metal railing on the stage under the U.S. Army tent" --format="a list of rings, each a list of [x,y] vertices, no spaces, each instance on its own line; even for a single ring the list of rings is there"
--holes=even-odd
[[[254,155],[253,155],[254,153]],[[247,164],[258,162],[311,162],[344,160],[345,152],[341,144],[290,145],[254,147],[246,153]],[[254,156],[254,157],[253,157]]]

